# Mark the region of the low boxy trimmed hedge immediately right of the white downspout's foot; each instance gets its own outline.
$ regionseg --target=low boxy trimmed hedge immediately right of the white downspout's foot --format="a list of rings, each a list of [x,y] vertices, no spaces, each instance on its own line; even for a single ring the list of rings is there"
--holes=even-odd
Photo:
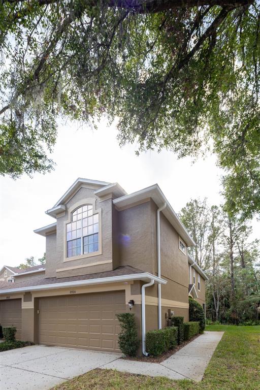
[[[146,350],[151,356],[159,356],[177,345],[178,328],[167,327],[146,333]]]

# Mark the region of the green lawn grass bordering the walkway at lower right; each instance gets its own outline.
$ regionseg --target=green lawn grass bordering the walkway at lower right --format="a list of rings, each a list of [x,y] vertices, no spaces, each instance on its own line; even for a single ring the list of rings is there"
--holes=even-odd
[[[260,389],[260,326],[210,325],[225,331],[200,383],[96,369],[53,390],[258,390]]]

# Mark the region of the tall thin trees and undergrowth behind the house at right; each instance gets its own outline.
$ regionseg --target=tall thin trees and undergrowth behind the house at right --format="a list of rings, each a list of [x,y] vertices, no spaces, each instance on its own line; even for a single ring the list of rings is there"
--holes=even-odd
[[[191,200],[180,216],[197,243],[191,251],[197,261],[207,248],[199,264],[209,277],[208,316],[233,323],[260,319],[260,241],[251,239],[250,220],[230,215],[226,206],[210,207],[206,199]]]

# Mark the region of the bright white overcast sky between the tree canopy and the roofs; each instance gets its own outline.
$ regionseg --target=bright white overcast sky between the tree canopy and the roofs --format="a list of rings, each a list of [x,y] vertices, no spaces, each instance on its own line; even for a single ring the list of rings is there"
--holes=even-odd
[[[172,152],[135,155],[135,145],[119,148],[115,126],[104,122],[98,131],[75,123],[59,126],[52,158],[56,168],[46,175],[0,178],[1,224],[0,267],[17,266],[26,257],[42,257],[45,238],[33,231],[55,220],[45,211],[51,208],[78,178],[118,182],[128,193],[158,183],[176,212],[190,198],[207,197],[219,204],[221,170],[215,157],[178,160]],[[259,222],[254,222],[254,237]]]

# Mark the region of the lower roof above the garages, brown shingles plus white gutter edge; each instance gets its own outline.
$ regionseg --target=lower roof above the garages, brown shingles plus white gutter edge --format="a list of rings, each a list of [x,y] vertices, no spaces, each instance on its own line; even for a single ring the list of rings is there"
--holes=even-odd
[[[167,283],[166,280],[158,278],[157,276],[152,275],[148,272],[143,272],[131,266],[121,266],[113,271],[105,271],[80,276],[70,276],[66,278],[30,278],[23,282],[16,282],[15,285],[8,285],[0,288],[0,294],[16,293],[18,291],[32,291],[49,288],[80,286],[87,284],[120,282],[127,280],[149,281],[151,279],[154,279],[155,283]]]

